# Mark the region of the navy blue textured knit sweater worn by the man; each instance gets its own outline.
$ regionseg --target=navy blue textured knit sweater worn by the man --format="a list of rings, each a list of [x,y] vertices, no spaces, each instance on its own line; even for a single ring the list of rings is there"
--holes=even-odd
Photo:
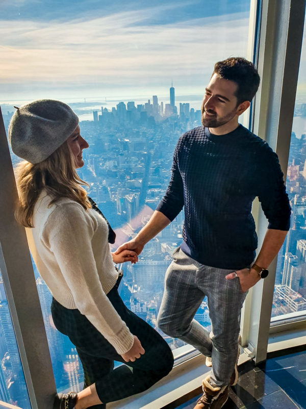
[[[200,126],[177,142],[157,210],[172,221],[184,206],[181,248],[188,256],[241,269],[251,264],[258,245],[251,215],[257,196],[268,228],[289,230],[291,209],[276,153],[242,125],[224,135]]]

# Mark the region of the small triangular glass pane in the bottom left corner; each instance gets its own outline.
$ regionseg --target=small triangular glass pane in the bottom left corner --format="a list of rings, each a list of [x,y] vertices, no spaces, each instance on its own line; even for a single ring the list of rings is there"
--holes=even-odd
[[[22,409],[31,409],[1,270],[0,364],[0,407],[3,401]]]

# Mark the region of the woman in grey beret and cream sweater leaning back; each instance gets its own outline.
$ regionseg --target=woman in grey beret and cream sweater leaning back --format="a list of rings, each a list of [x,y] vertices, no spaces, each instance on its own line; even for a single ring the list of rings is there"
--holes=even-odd
[[[54,324],[84,369],[85,389],[58,395],[57,409],[105,407],[146,390],[173,365],[162,337],[119,297],[113,262],[135,263],[137,254],[110,252],[107,221],[75,171],[88,148],[78,123],[68,105],[39,100],[17,108],[9,127],[12,150],[25,160],[17,167],[16,219],[30,228],[34,261],[53,294]],[[129,366],[114,370],[114,360]]]

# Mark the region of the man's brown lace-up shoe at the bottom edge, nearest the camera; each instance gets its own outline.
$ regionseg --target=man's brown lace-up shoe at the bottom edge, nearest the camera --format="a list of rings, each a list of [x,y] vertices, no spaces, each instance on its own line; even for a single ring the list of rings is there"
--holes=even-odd
[[[197,400],[194,409],[221,409],[228,399],[228,385],[214,387],[209,383],[210,377],[203,379],[203,395]]]

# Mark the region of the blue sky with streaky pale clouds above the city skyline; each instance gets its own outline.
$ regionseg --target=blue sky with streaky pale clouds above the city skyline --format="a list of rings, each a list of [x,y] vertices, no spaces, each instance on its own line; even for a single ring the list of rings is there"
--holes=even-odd
[[[249,2],[0,0],[0,102],[201,95],[246,56]]]

